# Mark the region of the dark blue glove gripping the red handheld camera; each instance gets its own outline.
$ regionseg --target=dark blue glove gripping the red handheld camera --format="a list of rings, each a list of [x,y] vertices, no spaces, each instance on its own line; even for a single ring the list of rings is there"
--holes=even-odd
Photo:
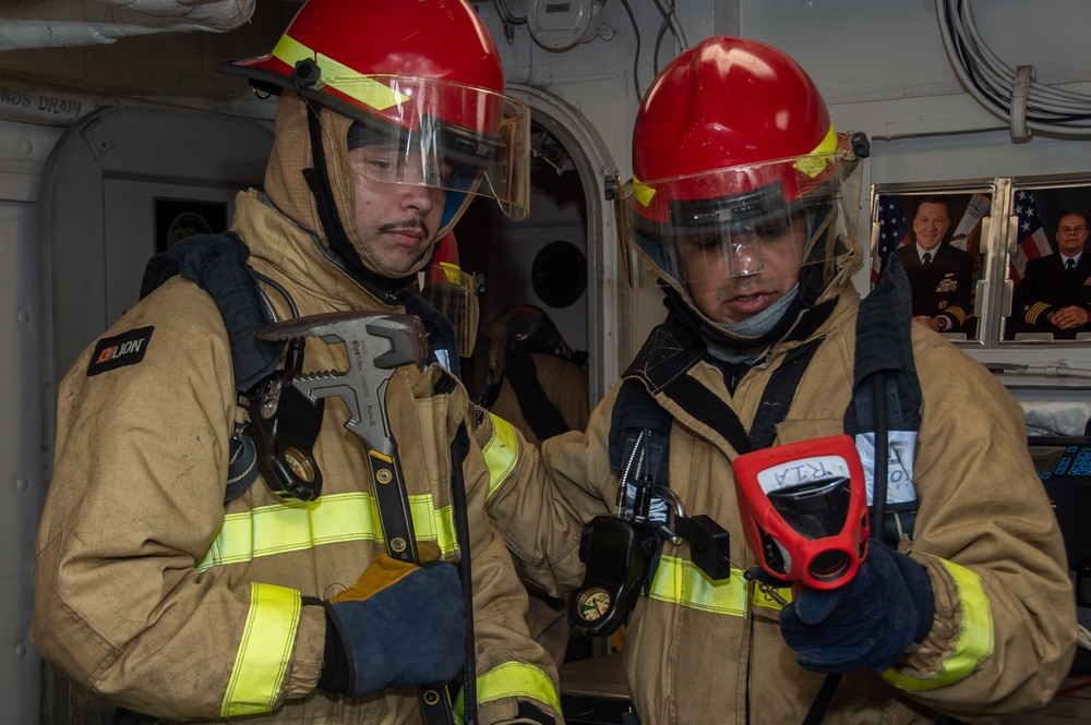
[[[924,641],[934,617],[928,572],[872,539],[855,578],[839,589],[801,591],[781,611],[780,631],[812,672],[885,672]]]

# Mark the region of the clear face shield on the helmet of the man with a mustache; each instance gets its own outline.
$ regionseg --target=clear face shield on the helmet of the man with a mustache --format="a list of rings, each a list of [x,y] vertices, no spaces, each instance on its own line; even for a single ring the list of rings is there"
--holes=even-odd
[[[440,235],[473,195],[495,200],[512,219],[527,217],[530,122],[521,101],[433,78],[348,73],[322,85],[353,104],[347,145],[333,146],[347,148],[352,174],[443,192]]]

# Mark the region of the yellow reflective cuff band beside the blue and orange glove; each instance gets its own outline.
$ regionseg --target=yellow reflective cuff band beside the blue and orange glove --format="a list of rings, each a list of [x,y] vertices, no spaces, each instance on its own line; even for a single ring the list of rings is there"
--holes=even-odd
[[[295,589],[250,584],[250,612],[219,708],[221,717],[254,715],[276,705],[302,606]]]

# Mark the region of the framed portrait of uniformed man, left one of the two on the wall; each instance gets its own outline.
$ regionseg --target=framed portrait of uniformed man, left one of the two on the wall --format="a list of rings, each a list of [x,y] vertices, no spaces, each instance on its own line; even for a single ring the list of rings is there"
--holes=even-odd
[[[897,258],[915,323],[956,343],[983,343],[995,198],[993,180],[874,185],[868,289]]]

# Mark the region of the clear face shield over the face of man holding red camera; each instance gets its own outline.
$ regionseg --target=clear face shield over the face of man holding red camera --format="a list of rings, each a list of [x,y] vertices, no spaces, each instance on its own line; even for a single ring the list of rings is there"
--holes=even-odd
[[[630,286],[666,282],[693,305],[697,289],[740,286],[742,278],[794,280],[806,265],[837,267],[854,247],[855,159],[839,148],[625,184],[620,214]]]

